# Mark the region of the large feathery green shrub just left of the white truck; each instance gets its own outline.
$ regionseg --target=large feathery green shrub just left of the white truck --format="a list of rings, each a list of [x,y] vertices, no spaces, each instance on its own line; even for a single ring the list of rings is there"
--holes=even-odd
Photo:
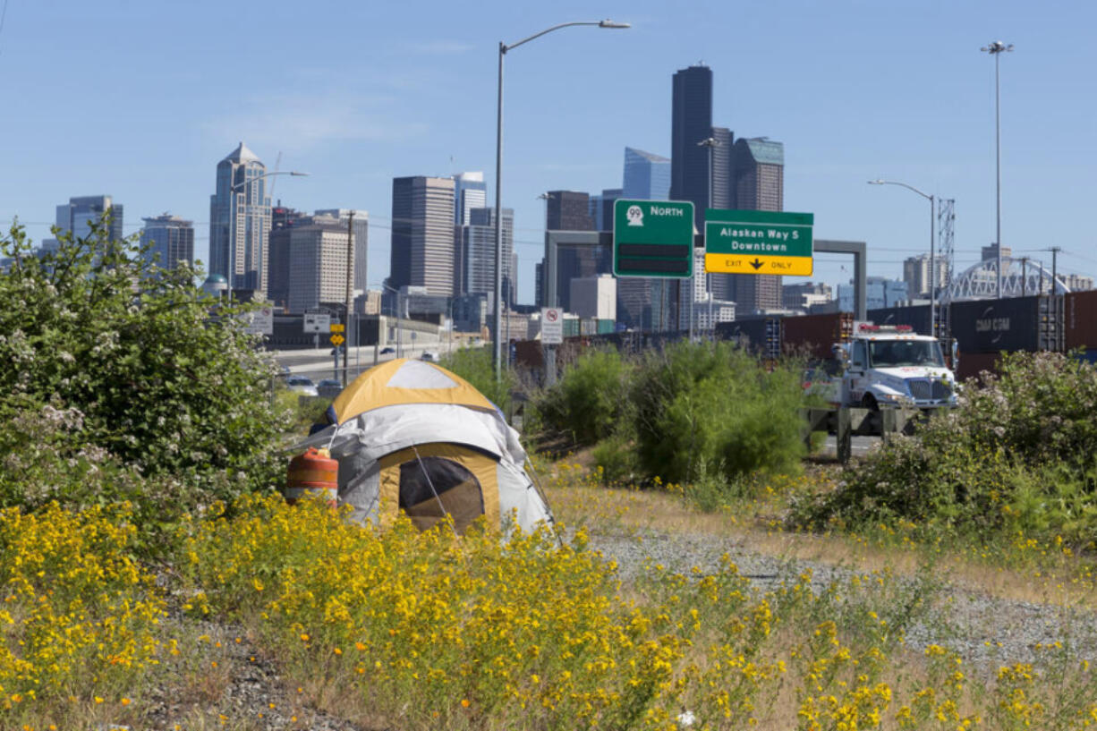
[[[698,479],[702,463],[720,465],[728,483],[754,472],[796,472],[802,391],[798,363],[767,371],[727,342],[651,353],[632,390],[640,464],[667,482]]]

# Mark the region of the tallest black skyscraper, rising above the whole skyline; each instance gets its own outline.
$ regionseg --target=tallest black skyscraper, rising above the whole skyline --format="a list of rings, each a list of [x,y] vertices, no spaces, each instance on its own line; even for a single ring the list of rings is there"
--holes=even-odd
[[[675,74],[670,121],[670,200],[692,201],[698,230],[709,204],[709,150],[698,143],[712,134],[712,69],[690,66]]]

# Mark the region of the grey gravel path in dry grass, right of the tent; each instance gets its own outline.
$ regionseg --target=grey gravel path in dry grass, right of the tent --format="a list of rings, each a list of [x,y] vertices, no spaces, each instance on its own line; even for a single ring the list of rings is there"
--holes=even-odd
[[[824,589],[835,581],[846,581],[855,571],[810,561],[785,561],[751,551],[742,540],[713,536],[647,532],[643,540],[613,536],[591,536],[591,548],[602,551],[621,566],[627,578],[645,560],[687,573],[693,566],[704,573],[716,570],[727,553],[739,572],[751,580],[758,592],[776,587],[781,576],[813,572],[812,584]],[[989,596],[957,584],[942,587],[929,611],[932,621],[917,622],[906,632],[907,645],[923,649],[937,643],[955,650],[975,668],[994,672],[1002,664],[1036,660],[1037,644],[1068,642],[1079,659],[1097,662],[1097,612],[1053,605],[1033,604]]]

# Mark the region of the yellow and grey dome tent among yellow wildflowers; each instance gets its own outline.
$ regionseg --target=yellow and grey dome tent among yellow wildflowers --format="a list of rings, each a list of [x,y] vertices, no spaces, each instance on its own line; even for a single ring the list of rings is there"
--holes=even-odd
[[[479,516],[523,530],[551,521],[524,470],[525,450],[502,414],[461,376],[397,359],[350,383],[328,425],[297,448],[326,447],[339,462],[339,503],[352,518],[388,526],[404,510],[420,529],[445,515],[463,531]]]

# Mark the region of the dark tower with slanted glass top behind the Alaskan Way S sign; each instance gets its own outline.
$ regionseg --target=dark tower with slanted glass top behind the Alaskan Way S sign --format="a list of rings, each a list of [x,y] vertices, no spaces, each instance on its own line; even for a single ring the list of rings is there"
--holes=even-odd
[[[784,145],[766,137],[735,140],[735,207],[740,211],[784,210]],[[781,306],[781,278],[733,274],[731,299],[740,313]]]

